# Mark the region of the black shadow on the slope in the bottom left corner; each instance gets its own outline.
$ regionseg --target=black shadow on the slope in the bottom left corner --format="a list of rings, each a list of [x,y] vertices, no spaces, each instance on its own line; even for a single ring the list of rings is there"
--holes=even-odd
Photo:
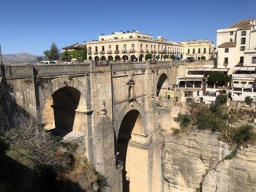
[[[29,162],[21,164],[6,153],[7,146],[0,141],[0,191],[49,191],[83,192],[77,183],[70,180],[58,179],[53,169],[42,169],[40,171],[30,169]]]

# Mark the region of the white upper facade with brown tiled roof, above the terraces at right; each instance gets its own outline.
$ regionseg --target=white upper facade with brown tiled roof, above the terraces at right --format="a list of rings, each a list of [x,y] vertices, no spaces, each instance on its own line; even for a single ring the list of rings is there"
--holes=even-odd
[[[256,66],[256,20],[241,20],[217,30],[217,53],[218,67]]]

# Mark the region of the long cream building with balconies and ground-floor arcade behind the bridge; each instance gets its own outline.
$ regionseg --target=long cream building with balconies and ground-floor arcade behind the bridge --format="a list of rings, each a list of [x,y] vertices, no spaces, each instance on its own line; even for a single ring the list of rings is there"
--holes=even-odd
[[[110,35],[100,35],[99,40],[87,42],[89,60],[97,61],[145,61],[146,54],[159,61],[170,60],[170,55],[182,58],[184,46],[165,40],[154,39],[139,31],[119,31]]]

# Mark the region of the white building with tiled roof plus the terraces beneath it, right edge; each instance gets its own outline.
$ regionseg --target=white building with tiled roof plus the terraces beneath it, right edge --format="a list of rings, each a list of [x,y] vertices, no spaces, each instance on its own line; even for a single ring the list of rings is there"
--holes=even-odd
[[[241,20],[217,30],[218,67],[232,74],[232,99],[256,99],[256,20]]]

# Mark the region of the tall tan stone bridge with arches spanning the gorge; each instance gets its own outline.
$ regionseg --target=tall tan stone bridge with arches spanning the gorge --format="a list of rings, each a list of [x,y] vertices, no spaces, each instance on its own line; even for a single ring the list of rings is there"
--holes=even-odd
[[[20,114],[42,120],[108,177],[108,191],[162,191],[157,102],[187,64],[173,62],[1,66],[0,126]],[[3,118],[4,117],[4,118]]]

